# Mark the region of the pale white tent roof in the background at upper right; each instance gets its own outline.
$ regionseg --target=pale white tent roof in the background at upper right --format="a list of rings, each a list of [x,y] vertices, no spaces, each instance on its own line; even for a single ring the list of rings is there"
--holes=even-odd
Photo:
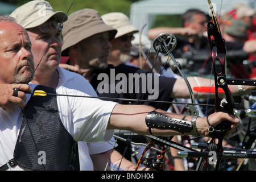
[[[234,8],[236,3],[243,3],[247,6],[254,7],[256,0],[212,0],[213,7],[216,7],[216,12],[227,12]],[[188,9],[200,9],[209,13],[209,5],[207,0],[144,0],[134,2],[131,5],[130,20],[131,23],[139,30],[146,23],[142,34],[146,34],[148,29],[152,27],[155,21],[155,16],[160,14],[183,14]]]

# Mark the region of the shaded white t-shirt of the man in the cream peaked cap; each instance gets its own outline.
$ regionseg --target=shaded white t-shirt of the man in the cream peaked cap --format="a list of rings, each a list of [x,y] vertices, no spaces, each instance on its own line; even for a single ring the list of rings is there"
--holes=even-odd
[[[63,68],[57,67],[59,72],[59,86],[65,86],[67,88],[77,89],[90,96],[97,97],[95,90],[92,85],[81,75],[67,71]],[[79,160],[81,171],[93,171],[93,162],[90,158],[92,154],[100,154],[102,152],[113,149],[114,138],[109,142],[78,142],[79,143]],[[115,145],[117,146],[117,144]]]

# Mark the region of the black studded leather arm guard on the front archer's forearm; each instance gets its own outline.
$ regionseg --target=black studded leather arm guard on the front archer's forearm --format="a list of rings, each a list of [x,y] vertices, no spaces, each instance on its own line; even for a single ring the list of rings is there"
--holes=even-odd
[[[172,118],[166,114],[151,111],[146,115],[146,125],[150,129],[170,129],[180,133],[190,133],[193,129],[192,123],[183,119]]]

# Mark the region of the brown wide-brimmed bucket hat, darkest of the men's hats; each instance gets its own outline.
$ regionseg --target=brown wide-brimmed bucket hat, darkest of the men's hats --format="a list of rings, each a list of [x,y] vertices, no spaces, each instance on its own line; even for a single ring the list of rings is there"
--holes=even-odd
[[[96,10],[82,9],[70,14],[67,22],[63,24],[62,55],[67,56],[65,49],[79,43],[81,40],[106,31],[109,31],[110,40],[114,39],[115,34],[117,34],[117,30],[106,25]]]

